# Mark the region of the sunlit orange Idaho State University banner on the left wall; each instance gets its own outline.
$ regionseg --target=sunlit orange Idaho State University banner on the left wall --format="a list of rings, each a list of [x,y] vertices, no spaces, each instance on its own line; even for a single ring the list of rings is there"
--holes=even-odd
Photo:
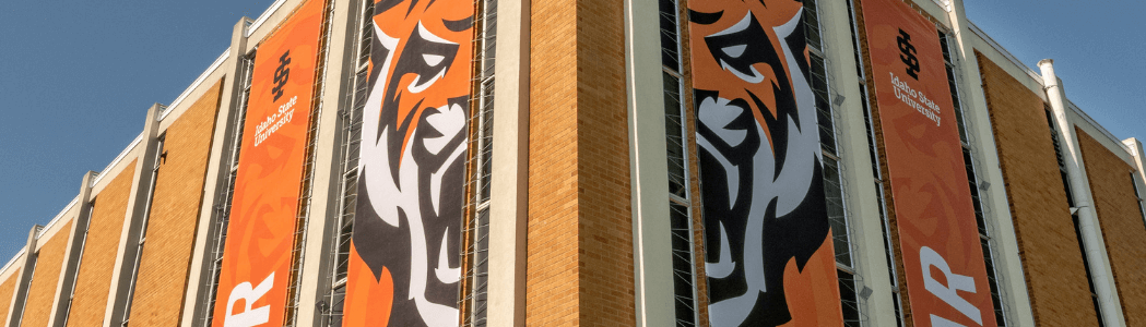
[[[260,46],[215,295],[215,327],[282,326],[324,1]]]

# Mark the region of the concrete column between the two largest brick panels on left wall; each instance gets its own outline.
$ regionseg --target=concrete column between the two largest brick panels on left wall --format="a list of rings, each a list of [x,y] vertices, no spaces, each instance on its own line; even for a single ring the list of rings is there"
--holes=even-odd
[[[143,141],[139,146],[142,151],[138,157],[132,178],[131,196],[127,197],[127,214],[124,218],[123,234],[119,237],[119,248],[116,252],[115,269],[111,271],[111,288],[108,290],[108,308],[103,316],[103,326],[119,326],[124,319],[131,300],[132,281],[135,279],[135,256],[139,253],[139,241],[147,224],[148,208],[151,202],[151,189],[155,186],[156,149],[159,145],[159,112],[163,105],[152,104],[147,111],[143,125]],[[140,150],[132,150],[140,151]],[[126,174],[127,172],[124,172]]]

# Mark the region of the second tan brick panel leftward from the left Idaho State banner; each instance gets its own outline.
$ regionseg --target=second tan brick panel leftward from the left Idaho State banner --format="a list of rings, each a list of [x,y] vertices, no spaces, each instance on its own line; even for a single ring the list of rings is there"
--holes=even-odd
[[[135,177],[135,160],[127,164],[127,168],[95,197],[79,274],[76,279],[76,295],[68,313],[68,326],[103,324],[108,289],[111,288],[111,272],[116,265],[119,238],[123,236],[132,180]]]

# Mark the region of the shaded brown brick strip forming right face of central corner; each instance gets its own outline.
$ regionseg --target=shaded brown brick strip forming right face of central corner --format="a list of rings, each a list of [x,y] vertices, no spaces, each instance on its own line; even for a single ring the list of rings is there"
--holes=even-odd
[[[619,0],[576,3],[581,322],[633,326],[636,318],[623,7]]]

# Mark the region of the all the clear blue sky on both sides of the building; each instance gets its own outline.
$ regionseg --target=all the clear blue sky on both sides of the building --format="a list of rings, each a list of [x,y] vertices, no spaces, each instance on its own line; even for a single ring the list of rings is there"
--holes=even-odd
[[[834,0],[832,0],[834,1]],[[927,1],[927,0],[917,0]],[[273,0],[3,1],[0,264],[71,201]],[[63,5],[63,6],[61,6]],[[1146,3],[968,0],[973,22],[1027,65],[1054,58],[1067,96],[1118,138],[1146,138]]]

